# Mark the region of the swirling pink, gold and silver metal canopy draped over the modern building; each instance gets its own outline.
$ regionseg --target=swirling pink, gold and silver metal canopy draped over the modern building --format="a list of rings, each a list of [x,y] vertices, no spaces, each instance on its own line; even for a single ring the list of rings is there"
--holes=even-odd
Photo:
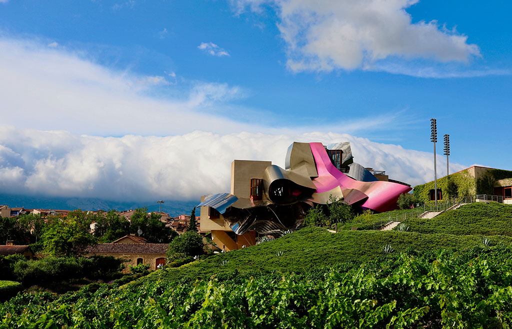
[[[300,227],[307,210],[328,204],[331,196],[362,209],[386,212],[396,209],[400,194],[411,191],[410,186],[379,181],[353,162],[350,143],[330,147],[329,152],[341,151],[341,167],[348,174],[333,165],[322,143],[294,142],[286,152],[285,169],[270,165],[261,174],[259,199],[221,193],[207,196],[198,206],[215,208],[237,234],[249,230],[277,234]]]

